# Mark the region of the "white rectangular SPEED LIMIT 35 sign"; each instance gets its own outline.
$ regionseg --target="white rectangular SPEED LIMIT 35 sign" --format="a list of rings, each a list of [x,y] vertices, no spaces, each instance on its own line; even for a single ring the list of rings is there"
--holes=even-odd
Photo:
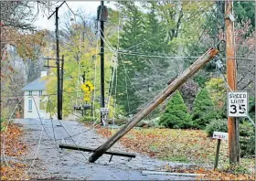
[[[247,117],[248,93],[246,91],[228,92],[228,116]]]

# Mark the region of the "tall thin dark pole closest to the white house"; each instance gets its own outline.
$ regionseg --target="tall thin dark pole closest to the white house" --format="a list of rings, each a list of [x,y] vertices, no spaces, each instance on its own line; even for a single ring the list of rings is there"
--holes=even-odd
[[[58,120],[62,120],[62,109],[61,109],[61,82],[60,82],[60,70],[59,70],[59,16],[58,16],[59,7],[56,7],[56,64],[57,64],[57,114],[58,114]]]

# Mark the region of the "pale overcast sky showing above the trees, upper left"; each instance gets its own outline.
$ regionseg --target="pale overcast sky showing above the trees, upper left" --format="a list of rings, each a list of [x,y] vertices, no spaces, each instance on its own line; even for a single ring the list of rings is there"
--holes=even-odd
[[[99,5],[101,5],[101,1],[66,1],[69,5],[69,7],[72,9],[72,11],[77,11],[78,8],[84,9],[86,15],[88,16],[96,16],[97,15],[97,8]],[[109,3],[104,3],[104,5],[113,7],[113,3],[111,2]],[[59,3],[61,4],[61,3]],[[35,9],[37,9],[35,7]],[[69,11],[69,8],[67,5],[62,5],[59,8],[59,17],[61,17],[61,15],[65,14],[67,11]],[[51,15],[52,12],[49,12],[49,15]],[[46,14],[48,15],[48,12],[46,12]],[[61,19],[59,19],[59,21],[61,21]],[[39,29],[48,29],[48,30],[54,30],[55,29],[55,17],[52,16],[49,20],[48,20],[48,16],[43,15],[42,13],[40,13],[37,16],[37,21],[35,22],[35,26]]]

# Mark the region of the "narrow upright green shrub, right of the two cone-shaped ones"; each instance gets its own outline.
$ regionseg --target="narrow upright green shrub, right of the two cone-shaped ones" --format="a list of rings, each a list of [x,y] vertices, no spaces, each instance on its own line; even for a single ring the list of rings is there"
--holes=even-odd
[[[192,121],[193,126],[198,129],[205,129],[206,125],[219,116],[214,108],[214,104],[209,97],[206,89],[197,93],[194,101]]]

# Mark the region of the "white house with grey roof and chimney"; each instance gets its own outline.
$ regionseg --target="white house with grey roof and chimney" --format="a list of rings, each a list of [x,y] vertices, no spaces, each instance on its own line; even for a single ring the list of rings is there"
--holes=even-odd
[[[41,108],[41,101],[46,91],[46,80],[42,78],[47,76],[47,71],[41,71],[41,77],[28,83],[22,91],[24,91],[24,118],[41,118],[48,119],[49,113]],[[34,98],[34,99],[33,99]],[[38,112],[37,112],[38,111]]]

